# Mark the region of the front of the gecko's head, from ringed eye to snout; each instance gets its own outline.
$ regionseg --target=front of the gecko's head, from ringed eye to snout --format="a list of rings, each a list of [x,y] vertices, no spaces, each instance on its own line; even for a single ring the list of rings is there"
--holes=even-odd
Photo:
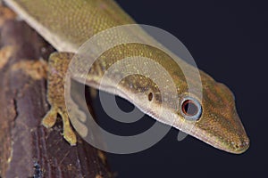
[[[246,151],[249,139],[233,94],[226,85],[215,82],[202,71],[200,74],[203,98],[186,93],[180,100],[180,115],[186,125],[191,125],[187,133],[220,150],[236,154]]]

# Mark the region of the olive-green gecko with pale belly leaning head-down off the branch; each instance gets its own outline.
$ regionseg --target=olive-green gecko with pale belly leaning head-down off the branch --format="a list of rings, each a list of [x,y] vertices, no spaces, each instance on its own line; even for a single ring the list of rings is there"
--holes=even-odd
[[[51,54],[49,58],[48,93],[47,99],[51,109],[43,118],[43,125],[52,127],[57,114],[63,118],[63,137],[71,145],[75,145],[76,135],[71,129],[71,123],[64,101],[64,78],[73,53],[77,53],[80,45],[88,38],[107,28],[113,28],[124,24],[135,24],[136,22],[124,12],[118,4],[112,0],[4,0],[23,20],[35,28],[58,53]],[[150,40],[143,32],[131,32],[132,35],[142,36]],[[141,34],[141,35],[140,35]],[[107,39],[109,43],[109,39]],[[120,52],[120,53],[118,53]],[[173,109],[164,105],[168,117],[160,116],[158,106],[160,100],[159,88],[147,77],[133,75],[122,80],[117,87],[121,97],[138,106],[145,113],[156,120],[167,123],[174,119],[172,126],[182,130],[182,125],[192,126],[186,131],[197,139],[206,142],[217,149],[231,153],[242,153],[249,147],[249,139],[239,119],[235,108],[235,101],[229,88],[217,83],[212,77],[199,70],[203,85],[202,100],[196,95],[189,95],[186,80],[179,67],[168,55],[159,53],[154,47],[143,44],[118,45],[102,55],[100,61],[94,63],[87,76],[76,74],[75,80],[86,79],[86,84],[97,88],[100,84],[105,70],[113,63],[121,59],[139,55],[148,57],[161,64],[172,76],[172,80],[178,85],[179,108]],[[183,63],[188,70],[192,67]],[[191,81],[195,85],[195,81]],[[105,85],[113,87],[113,81],[104,82]],[[134,86],[134,87],[130,87]],[[105,91],[105,89],[103,89]],[[111,91],[105,91],[111,92]],[[141,93],[140,100],[131,100],[135,93]],[[143,103],[153,102],[151,108],[143,108]],[[169,99],[172,100],[172,99]],[[188,113],[187,106],[196,107],[194,113]],[[188,119],[195,117],[196,121]]]

